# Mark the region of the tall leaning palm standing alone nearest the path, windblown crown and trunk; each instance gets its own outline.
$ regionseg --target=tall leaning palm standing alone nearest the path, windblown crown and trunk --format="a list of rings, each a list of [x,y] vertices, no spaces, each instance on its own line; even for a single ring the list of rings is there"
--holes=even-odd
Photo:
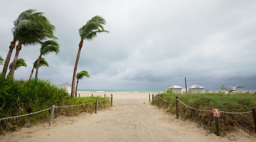
[[[94,16],[91,20],[87,21],[85,25],[82,26],[82,28],[79,29],[79,36],[81,37],[81,41],[79,43],[79,48],[76,56],[75,61],[75,67],[74,67],[74,73],[73,73],[73,79],[72,79],[72,88],[71,88],[71,97],[74,98],[74,91],[75,91],[75,75],[77,70],[77,64],[80,57],[80,52],[83,46],[83,41],[92,41],[95,37],[97,37],[97,34],[100,34],[102,32],[109,33],[109,31],[104,30],[103,25],[106,24],[105,19],[103,19],[101,16]]]

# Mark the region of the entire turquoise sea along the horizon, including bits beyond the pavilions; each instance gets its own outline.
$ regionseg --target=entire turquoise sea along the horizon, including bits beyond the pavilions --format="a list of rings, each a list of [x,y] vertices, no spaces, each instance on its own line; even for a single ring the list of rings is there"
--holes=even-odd
[[[77,89],[77,92],[130,92],[130,93],[158,93],[158,92],[164,92],[165,90],[88,90],[88,89]],[[209,92],[212,92],[213,90],[210,90]],[[249,90],[237,90],[238,92],[248,92]],[[255,92],[256,90],[250,90],[250,92]],[[206,89],[204,89],[204,92],[206,92]],[[215,92],[218,92],[218,90],[215,90]]]

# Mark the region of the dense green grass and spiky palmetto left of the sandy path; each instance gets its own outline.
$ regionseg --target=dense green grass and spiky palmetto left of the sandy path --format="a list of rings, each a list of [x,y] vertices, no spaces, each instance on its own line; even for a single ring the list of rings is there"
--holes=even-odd
[[[105,100],[104,97],[81,97],[71,99],[67,90],[57,87],[49,80],[13,80],[10,75],[0,77],[0,118],[8,118],[23,114],[38,112],[48,109],[52,105],[71,106]],[[110,101],[98,103],[98,108],[109,107]],[[76,115],[80,112],[95,110],[95,103],[76,107],[56,108],[55,115],[70,114]],[[13,119],[0,120],[0,132],[4,135],[6,131],[15,131],[22,126],[30,126],[33,123],[49,120],[50,110],[30,114]]]

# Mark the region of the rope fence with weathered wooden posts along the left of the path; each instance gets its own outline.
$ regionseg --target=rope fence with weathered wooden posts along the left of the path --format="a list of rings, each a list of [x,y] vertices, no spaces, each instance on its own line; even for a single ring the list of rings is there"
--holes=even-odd
[[[111,98],[111,107],[112,107],[112,103],[113,103],[113,95],[111,94],[110,96],[108,96],[110,99]],[[106,100],[108,100],[106,99]],[[86,105],[86,104],[91,104],[91,103],[96,103],[95,105],[95,113],[97,114],[97,109],[98,109],[98,102],[100,101],[105,101],[105,100],[96,100],[96,101],[93,101],[93,102],[89,102],[89,103],[85,103],[85,104],[79,104],[79,105],[72,105],[72,106],[60,106],[60,107],[74,107],[74,106],[81,106],[81,105]],[[55,106],[55,105],[52,105],[50,108],[47,108],[47,109],[44,109],[44,110],[41,110],[41,111],[38,111],[38,112],[34,112],[34,113],[40,113],[40,112],[43,112],[43,111],[46,111],[46,110],[49,110],[51,109],[51,114],[50,114],[50,125],[52,125],[53,123],[53,116],[54,116],[54,109],[55,108],[58,108],[58,106]],[[3,120],[3,119],[10,119],[10,118],[16,118],[16,117],[21,117],[21,116],[26,116],[26,115],[30,115],[30,114],[34,114],[34,113],[29,113],[29,114],[24,114],[24,115],[19,115],[19,116],[13,116],[13,117],[8,117],[8,118],[1,118],[0,120]]]

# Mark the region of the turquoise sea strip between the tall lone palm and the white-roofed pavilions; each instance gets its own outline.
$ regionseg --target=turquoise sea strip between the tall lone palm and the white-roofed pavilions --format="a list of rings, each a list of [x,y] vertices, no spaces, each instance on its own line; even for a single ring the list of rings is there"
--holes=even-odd
[[[130,93],[158,93],[165,90],[85,90],[77,89],[77,92],[130,92]]]

